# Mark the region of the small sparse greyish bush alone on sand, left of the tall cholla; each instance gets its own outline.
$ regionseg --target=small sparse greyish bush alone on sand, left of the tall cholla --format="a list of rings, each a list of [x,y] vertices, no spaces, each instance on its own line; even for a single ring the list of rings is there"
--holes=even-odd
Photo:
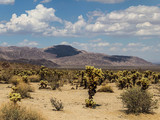
[[[63,110],[63,103],[61,102],[61,100],[57,100],[56,98],[51,98],[50,101],[52,106],[55,107],[57,111]]]

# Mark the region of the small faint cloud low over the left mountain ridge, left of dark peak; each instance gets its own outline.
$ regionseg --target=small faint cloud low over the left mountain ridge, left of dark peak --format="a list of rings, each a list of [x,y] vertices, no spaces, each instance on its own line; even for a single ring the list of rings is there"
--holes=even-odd
[[[18,43],[19,46],[29,46],[29,47],[33,47],[33,46],[37,46],[38,43],[35,41],[29,41],[27,39],[23,40],[22,42]]]

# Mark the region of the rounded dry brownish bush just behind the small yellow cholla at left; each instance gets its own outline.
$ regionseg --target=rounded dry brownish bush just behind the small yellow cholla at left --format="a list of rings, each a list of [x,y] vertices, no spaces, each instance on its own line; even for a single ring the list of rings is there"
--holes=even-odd
[[[17,85],[16,89],[13,89],[13,93],[20,93],[22,98],[31,97],[29,92],[33,92],[34,88],[26,83],[20,83]]]

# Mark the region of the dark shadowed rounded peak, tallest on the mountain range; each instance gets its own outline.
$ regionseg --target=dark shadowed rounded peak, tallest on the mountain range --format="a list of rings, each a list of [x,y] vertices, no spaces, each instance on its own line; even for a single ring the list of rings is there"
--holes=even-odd
[[[79,51],[70,45],[56,45],[56,46],[44,49],[44,52],[56,54],[57,58],[60,58],[60,57],[77,55],[82,51]]]

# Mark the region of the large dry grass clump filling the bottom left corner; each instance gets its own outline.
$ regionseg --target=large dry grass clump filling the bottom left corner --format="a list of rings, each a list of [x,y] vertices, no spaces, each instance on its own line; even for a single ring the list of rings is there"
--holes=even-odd
[[[40,113],[13,103],[4,104],[0,108],[0,120],[45,120]]]

